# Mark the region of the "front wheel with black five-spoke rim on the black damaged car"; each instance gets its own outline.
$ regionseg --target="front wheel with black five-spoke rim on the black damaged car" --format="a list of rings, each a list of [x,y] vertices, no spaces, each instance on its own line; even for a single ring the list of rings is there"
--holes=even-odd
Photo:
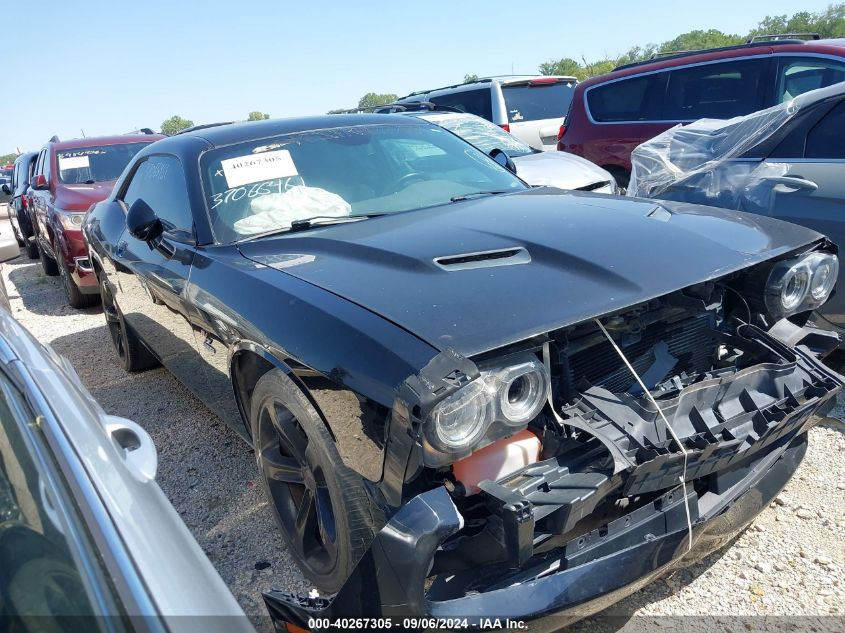
[[[261,377],[250,409],[258,469],[288,551],[320,591],[337,592],[384,516],[361,476],[344,466],[317,411],[282,371]]]

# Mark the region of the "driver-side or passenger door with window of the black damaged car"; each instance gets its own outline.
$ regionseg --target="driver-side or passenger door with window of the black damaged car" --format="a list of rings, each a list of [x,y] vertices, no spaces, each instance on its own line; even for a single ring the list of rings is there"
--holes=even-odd
[[[122,189],[118,204],[128,211],[136,200],[143,200],[164,232],[151,242],[126,230],[118,238],[112,254],[118,307],[161,363],[193,391],[201,390],[187,303],[196,240],[182,163],[169,154],[147,156]]]

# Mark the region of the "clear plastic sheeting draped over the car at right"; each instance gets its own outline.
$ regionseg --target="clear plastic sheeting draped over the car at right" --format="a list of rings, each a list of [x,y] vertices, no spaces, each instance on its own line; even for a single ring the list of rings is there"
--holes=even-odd
[[[772,182],[789,165],[764,162],[751,150],[808,105],[842,92],[845,84],[837,84],[746,116],[677,125],[633,151],[628,195],[766,212]]]

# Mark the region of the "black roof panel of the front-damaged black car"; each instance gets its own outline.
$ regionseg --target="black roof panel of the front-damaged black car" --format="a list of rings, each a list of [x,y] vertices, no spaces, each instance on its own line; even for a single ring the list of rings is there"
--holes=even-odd
[[[160,141],[156,145],[164,149],[171,145],[178,146],[182,144],[181,141],[183,139],[198,138],[213,146],[220,146],[282,136],[284,134],[295,134],[296,132],[388,124],[414,125],[415,122],[409,120],[407,117],[395,114],[325,114],[311,117],[269,119],[266,121],[242,121],[191,130],[165,138],[165,140]]]

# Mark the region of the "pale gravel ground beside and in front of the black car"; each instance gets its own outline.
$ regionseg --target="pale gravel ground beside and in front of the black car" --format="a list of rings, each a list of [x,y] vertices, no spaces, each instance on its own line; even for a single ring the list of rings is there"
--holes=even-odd
[[[45,277],[37,261],[23,255],[4,265],[3,277],[15,318],[71,360],[108,413],[134,419],[150,433],[160,455],[159,485],[244,611],[259,624],[263,589],[307,589],[273,522],[252,451],[235,432],[167,371],[124,373],[99,308],[67,306],[58,277]],[[845,417],[845,398],[834,415]],[[820,426],[810,432],[807,457],[787,489],[732,547],[653,583],[603,615],[615,616],[612,628],[623,631],[651,627],[656,616],[761,614],[814,616],[812,622],[821,623],[813,624],[816,630],[842,630],[843,543],[845,430]],[[836,614],[840,617],[824,617]],[[601,622],[575,628],[592,630]],[[261,621],[260,628],[265,626]]]

